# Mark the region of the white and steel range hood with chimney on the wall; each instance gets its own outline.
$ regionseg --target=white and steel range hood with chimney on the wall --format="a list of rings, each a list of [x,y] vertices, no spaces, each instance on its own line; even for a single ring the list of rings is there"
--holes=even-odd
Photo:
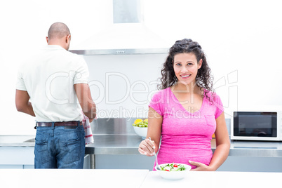
[[[81,55],[168,53],[169,43],[145,26],[142,10],[142,0],[112,0],[112,23],[70,51]]]

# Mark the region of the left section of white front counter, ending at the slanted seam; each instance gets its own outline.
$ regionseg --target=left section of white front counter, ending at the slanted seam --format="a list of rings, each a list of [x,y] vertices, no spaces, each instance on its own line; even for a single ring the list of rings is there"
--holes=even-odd
[[[0,169],[5,188],[140,187],[149,170]]]

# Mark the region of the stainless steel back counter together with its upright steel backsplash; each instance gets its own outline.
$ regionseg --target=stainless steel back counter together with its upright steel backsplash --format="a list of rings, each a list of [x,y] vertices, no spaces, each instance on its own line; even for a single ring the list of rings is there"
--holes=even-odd
[[[139,154],[142,138],[135,134],[135,119],[97,119],[91,123],[94,144],[86,145],[86,154]],[[226,119],[229,128],[230,119]],[[215,139],[211,141],[215,150]],[[0,147],[34,147],[34,135],[0,135]],[[229,156],[282,157],[282,142],[232,141]]]

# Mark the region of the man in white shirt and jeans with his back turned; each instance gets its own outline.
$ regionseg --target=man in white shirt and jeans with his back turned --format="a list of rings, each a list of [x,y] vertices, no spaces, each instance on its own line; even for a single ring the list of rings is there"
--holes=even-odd
[[[64,23],[51,25],[46,40],[48,45],[20,67],[15,105],[35,116],[35,168],[83,168],[82,112],[90,122],[96,115],[88,67],[68,51],[71,35]]]

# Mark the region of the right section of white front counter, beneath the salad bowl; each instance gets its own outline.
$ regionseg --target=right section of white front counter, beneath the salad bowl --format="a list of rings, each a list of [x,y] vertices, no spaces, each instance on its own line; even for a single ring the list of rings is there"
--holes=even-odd
[[[150,171],[141,187],[281,187],[282,173],[189,172],[182,180],[164,180]]]

